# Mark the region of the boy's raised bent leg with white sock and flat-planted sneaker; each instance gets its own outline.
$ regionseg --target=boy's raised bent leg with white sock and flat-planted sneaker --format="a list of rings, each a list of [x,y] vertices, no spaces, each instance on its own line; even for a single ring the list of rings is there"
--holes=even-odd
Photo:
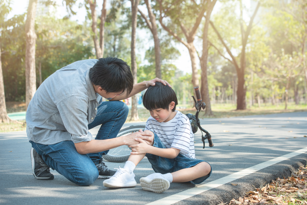
[[[145,132],[151,132],[146,130]],[[153,132],[151,132],[153,133]],[[154,141],[154,135],[152,135]],[[153,145],[153,142],[151,143]],[[119,168],[117,172],[107,180],[103,181],[103,185],[108,188],[119,187],[135,187],[136,181],[134,179],[133,170],[136,165],[145,157],[145,154],[130,154],[128,161],[126,161],[124,168]]]

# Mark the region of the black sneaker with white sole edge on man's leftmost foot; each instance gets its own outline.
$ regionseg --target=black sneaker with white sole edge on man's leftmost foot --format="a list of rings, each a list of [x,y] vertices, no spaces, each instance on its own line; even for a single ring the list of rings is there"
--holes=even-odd
[[[50,173],[50,168],[33,147],[31,148],[31,161],[32,161],[32,173],[36,179],[39,180],[54,179],[53,174]]]

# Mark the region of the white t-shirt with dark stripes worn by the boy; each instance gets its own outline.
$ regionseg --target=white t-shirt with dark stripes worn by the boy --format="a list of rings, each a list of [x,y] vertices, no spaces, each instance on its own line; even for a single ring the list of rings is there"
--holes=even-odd
[[[166,148],[180,149],[181,154],[195,159],[194,134],[185,114],[177,111],[175,117],[168,122],[158,122],[150,116],[145,130],[155,133]]]

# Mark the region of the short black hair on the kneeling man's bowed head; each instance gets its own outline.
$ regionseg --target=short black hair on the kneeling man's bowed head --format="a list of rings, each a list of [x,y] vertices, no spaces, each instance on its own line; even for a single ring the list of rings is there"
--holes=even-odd
[[[99,58],[90,69],[89,77],[94,85],[107,92],[125,92],[129,95],[133,88],[133,76],[129,65],[113,57]]]

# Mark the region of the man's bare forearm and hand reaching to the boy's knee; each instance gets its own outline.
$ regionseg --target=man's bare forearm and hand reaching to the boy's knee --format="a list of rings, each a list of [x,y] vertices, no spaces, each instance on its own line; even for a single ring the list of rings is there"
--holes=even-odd
[[[91,141],[75,143],[75,147],[77,149],[77,152],[80,154],[96,153],[112,149],[121,145],[134,145],[140,143],[136,139],[142,139],[152,142],[152,139],[148,136],[152,136],[152,133],[134,132],[132,134],[121,137],[115,137],[113,139],[91,140]]]

